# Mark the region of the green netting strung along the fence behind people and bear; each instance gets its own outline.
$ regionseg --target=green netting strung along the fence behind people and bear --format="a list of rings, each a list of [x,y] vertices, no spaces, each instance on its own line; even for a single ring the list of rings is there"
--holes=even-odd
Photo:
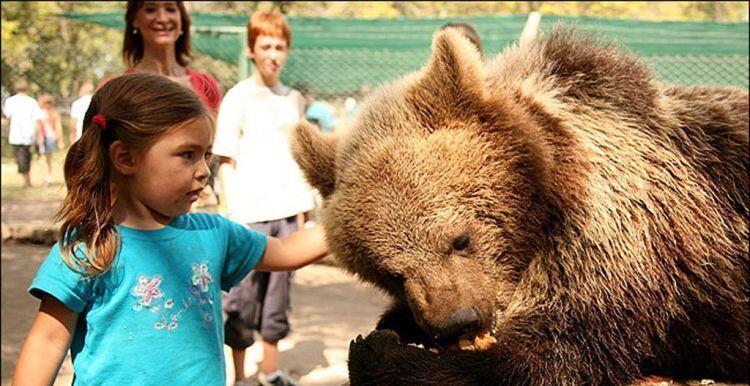
[[[62,16],[124,28],[121,13]],[[191,14],[193,49],[231,63],[236,80],[247,74],[248,15]],[[420,68],[429,58],[433,32],[453,19],[338,19],[288,17],[293,53],[282,80],[316,96],[353,95]],[[489,57],[517,41],[526,15],[466,17]],[[648,22],[542,16],[548,32],[563,23],[591,29],[641,56],[665,82],[748,88],[748,23]],[[210,69],[206,69],[210,72]]]

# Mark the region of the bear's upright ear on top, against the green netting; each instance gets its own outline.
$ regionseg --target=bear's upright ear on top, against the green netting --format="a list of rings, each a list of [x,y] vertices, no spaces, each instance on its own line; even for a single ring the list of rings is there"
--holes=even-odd
[[[435,34],[432,57],[406,94],[427,126],[446,117],[474,114],[485,99],[482,60],[474,45],[454,28]]]

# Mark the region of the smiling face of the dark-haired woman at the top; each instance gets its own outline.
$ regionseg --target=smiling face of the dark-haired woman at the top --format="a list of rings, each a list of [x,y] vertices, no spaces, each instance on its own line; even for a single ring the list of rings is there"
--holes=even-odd
[[[135,13],[133,27],[146,46],[173,46],[182,31],[181,16],[176,1],[145,1]]]

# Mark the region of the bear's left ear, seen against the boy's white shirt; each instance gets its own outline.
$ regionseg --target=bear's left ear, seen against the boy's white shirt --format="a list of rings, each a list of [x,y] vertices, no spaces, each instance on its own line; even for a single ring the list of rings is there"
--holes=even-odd
[[[292,155],[307,181],[318,189],[323,198],[333,193],[336,184],[336,137],[323,134],[302,121],[292,133]]]

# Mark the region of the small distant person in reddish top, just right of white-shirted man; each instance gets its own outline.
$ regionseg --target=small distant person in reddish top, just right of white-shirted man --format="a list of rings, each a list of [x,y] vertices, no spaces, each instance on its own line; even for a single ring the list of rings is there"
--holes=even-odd
[[[36,146],[39,155],[44,157],[47,165],[47,174],[44,176],[44,184],[52,183],[52,157],[57,149],[64,149],[65,142],[62,132],[62,118],[55,108],[55,100],[52,95],[42,94],[39,96],[39,107],[42,109],[40,119],[37,121],[38,134]]]

